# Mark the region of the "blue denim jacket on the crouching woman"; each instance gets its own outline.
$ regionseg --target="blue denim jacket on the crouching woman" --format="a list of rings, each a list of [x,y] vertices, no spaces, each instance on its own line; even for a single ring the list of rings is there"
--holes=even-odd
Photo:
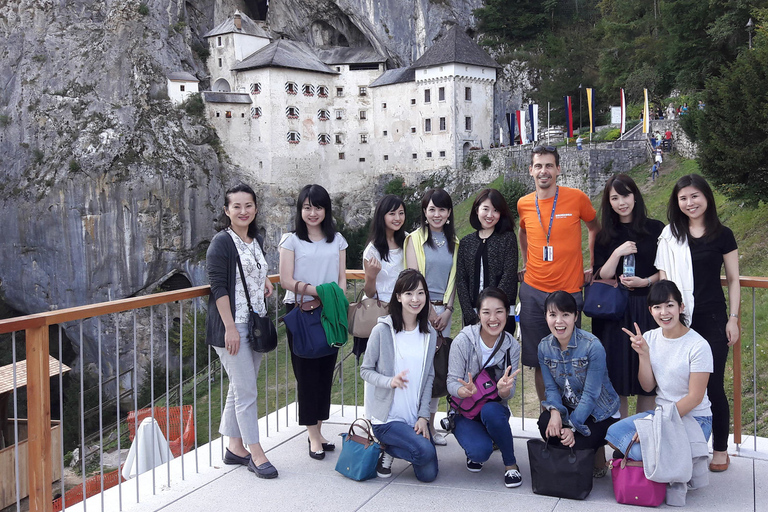
[[[560,342],[550,334],[539,343],[539,366],[547,390],[542,406],[560,411],[563,423],[570,422],[576,432],[589,436],[591,432],[584,422],[590,416],[603,421],[619,410],[619,395],[611,385],[605,365],[605,349],[594,335],[574,328],[563,351]],[[580,397],[570,415],[562,400],[566,378],[573,393]]]

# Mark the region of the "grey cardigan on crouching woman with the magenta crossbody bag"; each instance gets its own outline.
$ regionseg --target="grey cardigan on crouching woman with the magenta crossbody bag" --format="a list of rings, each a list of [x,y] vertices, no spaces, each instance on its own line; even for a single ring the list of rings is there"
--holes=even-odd
[[[502,336],[501,348],[495,356],[498,362],[496,365],[493,363],[488,365],[489,371],[493,370],[491,377],[497,381],[504,374],[507,366],[512,367],[510,373],[514,373],[520,366],[520,343],[506,331],[502,332]],[[448,359],[448,392],[451,396],[459,397],[459,388],[462,387],[459,379],[466,381],[468,372],[472,373],[473,378],[476,377],[481,370],[480,367],[485,363],[478,343],[482,343],[479,324],[468,325],[463,328],[451,343],[451,355]],[[498,354],[502,354],[502,356],[499,357]],[[515,378],[512,389],[509,390],[509,396],[501,399],[504,404],[515,395],[516,386],[517,378]]]

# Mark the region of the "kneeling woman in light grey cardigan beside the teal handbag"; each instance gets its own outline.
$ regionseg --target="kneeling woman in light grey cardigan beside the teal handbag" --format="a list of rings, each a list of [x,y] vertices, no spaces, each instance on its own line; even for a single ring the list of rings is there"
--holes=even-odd
[[[437,452],[429,433],[437,333],[429,325],[429,290],[418,270],[400,273],[389,303],[368,339],[360,376],[365,415],[385,446],[376,473],[392,474],[393,459],[413,464],[416,478],[437,478]]]

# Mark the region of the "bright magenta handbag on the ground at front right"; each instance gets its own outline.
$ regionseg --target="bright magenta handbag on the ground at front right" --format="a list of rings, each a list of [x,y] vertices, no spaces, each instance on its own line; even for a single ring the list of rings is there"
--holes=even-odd
[[[635,442],[633,439],[626,453]],[[645,478],[643,462],[631,460],[628,455],[623,459],[611,459],[608,463],[613,480],[613,494],[617,503],[639,505],[641,507],[658,507],[664,503],[667,495],[667,484],[652,482]]]

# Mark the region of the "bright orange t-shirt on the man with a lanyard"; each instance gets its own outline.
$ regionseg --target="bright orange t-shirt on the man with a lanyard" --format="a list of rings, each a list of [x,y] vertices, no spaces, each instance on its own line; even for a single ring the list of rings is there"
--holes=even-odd
[[[547,230],[555,197],[539,200],[541,223],[536,215],[535,192],[517,202],[520,227],[525,229],[528,238],[525,282],[547,293],[557,290],[574,293],[584,286],[581,221],[591,222],[596,213],[589,197],[581,190],[569,187],[558,187],[558,190],[555,220],[549,237],[549,245],[553,248],[552,261],[544,261],[544,246],[547,245]]]

